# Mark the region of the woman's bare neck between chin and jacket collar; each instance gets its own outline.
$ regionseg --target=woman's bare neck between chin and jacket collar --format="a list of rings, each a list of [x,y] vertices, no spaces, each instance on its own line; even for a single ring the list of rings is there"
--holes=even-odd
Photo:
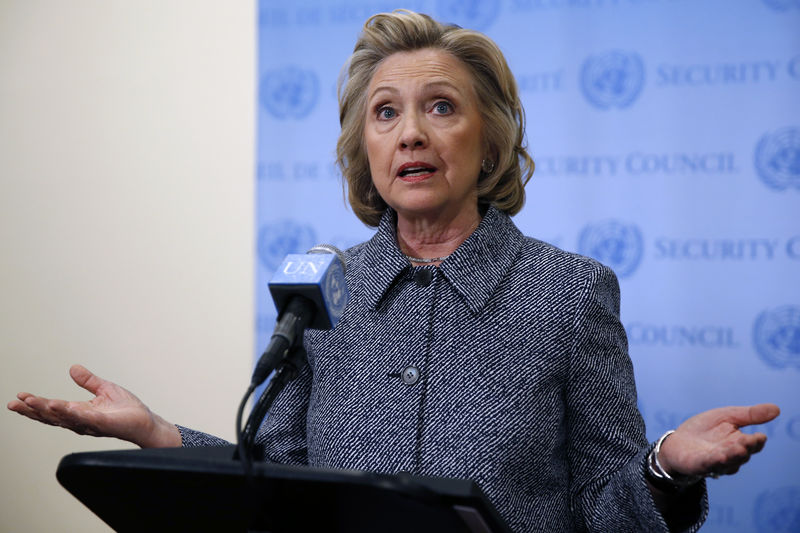
[[[474,210],[458,213],[450,220],[431,220],[398,213],[397,244],[407,256],[444,258],[472,235],[480,221],[477,205]]]

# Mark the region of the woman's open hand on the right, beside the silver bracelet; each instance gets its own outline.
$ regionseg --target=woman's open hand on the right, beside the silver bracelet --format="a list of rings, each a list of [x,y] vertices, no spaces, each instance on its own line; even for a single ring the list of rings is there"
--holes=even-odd
[[[661,445],[661,466],[684,476],[734,474],[764,447],[767,436],[739,428],[764,424],[780,414],[777,405],[719,407],[696,414],[678,426]]]

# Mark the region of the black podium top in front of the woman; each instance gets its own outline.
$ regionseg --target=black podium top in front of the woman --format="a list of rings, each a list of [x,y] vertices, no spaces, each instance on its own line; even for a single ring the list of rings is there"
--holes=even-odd
[[[116,531],[454,532],[509,529],[471,481],[258,462],[233,446],[67,455],[59,482]]]

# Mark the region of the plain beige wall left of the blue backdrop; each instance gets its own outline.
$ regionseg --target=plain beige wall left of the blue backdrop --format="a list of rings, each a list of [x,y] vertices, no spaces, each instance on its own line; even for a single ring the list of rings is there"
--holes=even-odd
[[[255,6],[0,0],[0,392],[88,398],[81,362],[233,437],[253,325]],[[0,414],[0,531],[107,531],[65,454]]]

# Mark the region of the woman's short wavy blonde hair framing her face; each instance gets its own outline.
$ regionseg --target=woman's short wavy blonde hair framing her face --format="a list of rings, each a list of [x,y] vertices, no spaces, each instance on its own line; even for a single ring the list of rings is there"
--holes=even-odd
[[[386,202],[372,183],[364,148],[367,87],[378,65],[396,52],[433,48],[460,59],[472,74],[483,119],[484,142],[497,158],[490,173],[478,178],[478,204],[514,215],[525,203],[525,184],[534,164],[524,146],[525,111],[517,83],[498,46],[482,33],[443,25],[428,15],[398,9],[370,17],[339,79],[336,164],[347,184],[355,214],[377,226]],[[343,184],[344,186],[344,184]]]

